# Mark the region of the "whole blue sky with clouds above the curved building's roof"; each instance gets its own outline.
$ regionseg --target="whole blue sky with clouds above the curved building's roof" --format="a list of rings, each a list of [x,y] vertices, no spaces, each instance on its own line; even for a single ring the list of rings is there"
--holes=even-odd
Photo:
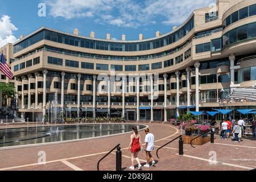
[[[216,0],[0,0],[0,47],[14,43],[40,27],[114,40],[154,38],[180,26],[195,9]]]

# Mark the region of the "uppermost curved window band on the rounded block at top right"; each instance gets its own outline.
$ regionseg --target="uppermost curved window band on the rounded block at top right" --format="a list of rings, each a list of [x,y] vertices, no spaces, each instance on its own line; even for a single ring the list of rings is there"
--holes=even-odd
[[[247,18],[248,16],[254,16],[254,15],[256,15],[256,4],[244,7],[243,9],[240,9],[232,13],[231,15],[229,15],[222,23],[222,27],[223,29],[225,29],[230,24],[237,22],[238,20]]]

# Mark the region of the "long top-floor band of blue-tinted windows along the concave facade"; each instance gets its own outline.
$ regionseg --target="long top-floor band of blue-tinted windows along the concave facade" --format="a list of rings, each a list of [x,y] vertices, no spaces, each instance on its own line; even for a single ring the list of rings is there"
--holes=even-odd
[[[114,43],[114,42],[104,42],[98,40],[90,40],[84,38],[77,38],[75,36],[69,36],[49,30],[43,30],[37,34],[31,36],[30,38],[23,40],[22,42],[14,46],[14,53],[21,51],[40,40],[46,39],[57,43],[68,44],[71,46],[91,48],[91,49],[101,49],[107,51],[144,51],[149,49],[155,49],[168,44],[172,44],[177,40],[183,38],[187,35],[194,27],[194,19],[191,18],[188,23],[181,27],[176,32],[165,36],[164,38],[151,40],[143,43]]]

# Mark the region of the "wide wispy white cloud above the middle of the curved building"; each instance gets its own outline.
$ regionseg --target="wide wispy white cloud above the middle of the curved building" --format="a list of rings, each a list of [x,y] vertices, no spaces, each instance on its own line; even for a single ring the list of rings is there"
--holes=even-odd
[[[118,27],[160,23],[181,24],[193,10],[216,0],[46,0],[49,14],[65,19],[93,17],[97,23]]]

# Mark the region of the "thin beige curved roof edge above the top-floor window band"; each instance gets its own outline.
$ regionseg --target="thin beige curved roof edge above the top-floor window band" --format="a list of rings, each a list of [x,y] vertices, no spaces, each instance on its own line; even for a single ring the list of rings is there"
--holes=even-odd
[[[183,28],[185,26],[186,23],[189,22],[189,20],[191,20],[191,18],[193,17],[195,11],[193,11],[189,16],[188,18],[185,20],[185,22],[183,22],[179,28],[177,28],[176,30],[174,31],[171,31],[171,32],[168,32],[167,34],[163,34],[163,35],[160,35],[158,37],[155,37],[155,38],[150,38],[150,39],[143,39],[143,40],[106,40],[106,39],[100,39],[100,38],[90,38],[88,36],[83,36],[83,35],[74,35],[74,34],[71,34],[69,32],[64,32],[64,31],[60,31],[60,30],[56,30],[56,29],[53,29],[53,28],[49,28],[49,27],[41,27],[39,28],[38,30],[32,32],[31,34],[25,36],[23,39],[19,39],[17,42],[15,42],[13,45],[15,46],[16,44],[22,42],[23,40],[26,40],[27,38],[30,38],[32,35],[42,31],[42,30],[49,30],[49,31],[54,31],[54,32],[57,32],[57,33],[60,33],[60,34],[65,34],[65,35],[69,35],[69,36],[74,36],[74,37],[77,37],[77,38],[82,38],[82,39],[88,39],[88,40],[97,40],[97,41],[101,41],[101,42],[113,42],[113,43],[141,43],[141,42],[148,42],[148,41],[152,41],[152,40],[158,40],[158,39],[161,39],[161,38],[164,38],[165,36],[168,36],[168,35],[171,35],[173,34],[174,32],[176,31],[179,31],[181,28]]]

